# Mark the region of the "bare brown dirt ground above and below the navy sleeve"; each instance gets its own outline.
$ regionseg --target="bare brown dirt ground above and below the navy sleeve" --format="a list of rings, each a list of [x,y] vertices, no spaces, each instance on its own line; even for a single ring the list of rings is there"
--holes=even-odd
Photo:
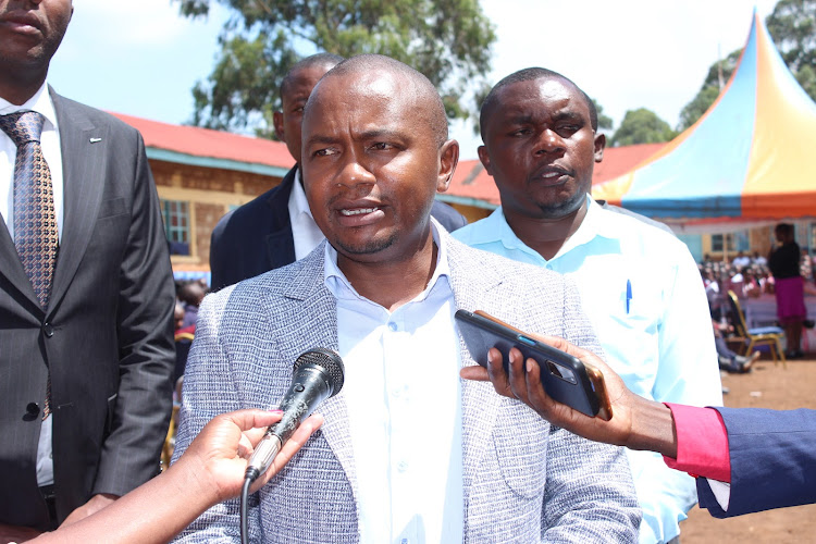
[[[730,407],[787,410],[816,408],[816,354],[789,361],[788,369],[772,361],[758,361],[750,374],[726,374],[724,396]],[[682,544],[801,543],[816,542],[816,505],[782,508],[731,519],[712,518],[695,507],[680,524]]]

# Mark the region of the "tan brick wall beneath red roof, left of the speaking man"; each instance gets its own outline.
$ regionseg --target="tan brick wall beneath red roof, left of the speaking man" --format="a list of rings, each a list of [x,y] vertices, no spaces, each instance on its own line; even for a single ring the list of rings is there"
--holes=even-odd
[[[173,255],[173,270],[209,271],[210,235],[233,208],[281,183],[281,177],[150,160],[159,198],[187,202],[189,255]]]

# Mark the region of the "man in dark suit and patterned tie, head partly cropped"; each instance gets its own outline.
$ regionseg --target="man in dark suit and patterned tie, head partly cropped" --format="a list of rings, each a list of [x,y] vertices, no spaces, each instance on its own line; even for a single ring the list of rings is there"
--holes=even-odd
[[[144,143],[46,82],[72,14],[0,0],[2,542],[154,475],[170,417],[174,288]]]

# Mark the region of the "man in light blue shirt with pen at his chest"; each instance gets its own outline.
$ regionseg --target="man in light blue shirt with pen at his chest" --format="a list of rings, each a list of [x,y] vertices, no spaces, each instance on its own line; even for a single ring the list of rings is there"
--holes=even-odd
[[[708,307],[688,248],[589,195],[606,143],[592,100],[560,74],[528,69],[493,88],[480,123],[479,158],[502,207],[455,237],[571,277],[609,364],[639,395],[720,405]],[[641,542],[668,542],[696,502],[694,481],[657,454],[629,456]]]

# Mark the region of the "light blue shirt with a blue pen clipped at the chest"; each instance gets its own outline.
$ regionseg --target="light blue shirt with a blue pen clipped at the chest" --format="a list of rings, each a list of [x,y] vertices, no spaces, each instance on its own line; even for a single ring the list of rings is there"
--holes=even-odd
[[[708,304],[685,245],[589,196],[578,231],[549,261],[521,242],[502,208],[452,233],[459,240],[572,279],[608,364],[634,393],[692,406],[719,406],[722,392]],[[671,540],[696,503],[694,480],[658,454],[628,450],[643,508],[641,542]]]

